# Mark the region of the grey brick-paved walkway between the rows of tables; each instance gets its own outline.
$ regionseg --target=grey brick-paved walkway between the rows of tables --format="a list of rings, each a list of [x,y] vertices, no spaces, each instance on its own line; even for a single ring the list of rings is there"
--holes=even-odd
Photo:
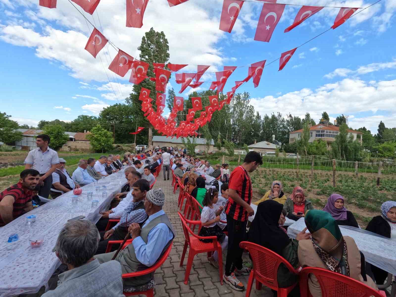
[[[173,228],[177,232],[173,240],[173,248],[169,258],[164,265],[154,274],[155,296],[156,297],[242,297],[246,295],[246,291],[235,291],[227,284],[220,284],[219,270],[211,266],[208,262],[206,253],[198,254],[194,258],[194,264],[191,268],[189,282],[187,285],[183,283],[185,276],[185,269],[187,266],[187,255],[184,260],[184,265],[180,267],[181,254],[183,253],[183,245],[185,241],[183,229],[181,227],[180,218],[177,215],[177,199],[179,190],[173,194],[173,187],[171,186],[171,178],[169,181],[164,181],[162,172],[158,176],[158,180],[154,188],[161,188],[165,193],[164,211],[168,215]],[[188,252],[187,252],[188,253]],[[225,254],[223,254],[225,260]],[[225,261],[224,261],[225,262]],[[224,263],[225,265],[225,263]],[[223,267],[224,267],[223,265]],[[247,285],[249,276],[238,277],[241,282]],[[272,292],[267,287],[263,287],[260,291],[256,291],[255,285],[251,290],[250,296],[272,297]]]

